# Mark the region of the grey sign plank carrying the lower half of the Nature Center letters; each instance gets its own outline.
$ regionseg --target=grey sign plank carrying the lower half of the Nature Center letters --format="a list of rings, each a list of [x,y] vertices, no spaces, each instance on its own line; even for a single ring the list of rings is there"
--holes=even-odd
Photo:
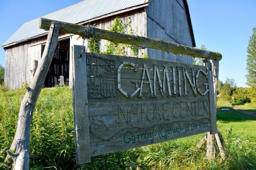
[[[151,112],[138,112],[126,113],[125,108],[119,108],[115,114],[110,113],[104,116],[90,116],[90,130],[105,129],[110,127],[120,127],[128,125],[141,125],[143,123],[165,122],[170,120],[179,120],[184,118],[195,118],[204,115],[210,115],[209,107],[190,107],[178,109],[179,105],[174,108],[175,110],[157,110],[154,104],[154,109]],[[196,111],[196,112],[195,112]]]

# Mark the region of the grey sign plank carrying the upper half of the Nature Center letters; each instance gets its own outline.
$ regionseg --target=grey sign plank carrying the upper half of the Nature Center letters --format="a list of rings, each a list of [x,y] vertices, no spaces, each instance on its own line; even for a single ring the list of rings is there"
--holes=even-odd
[[[198,115],[202,108],[207,108],[210,113],[209,100],[207,99],[173,99],[173,100],[151,100],[151,101],[129,101],[129,102],[110,102],[110,103],[89,103],[89,116],[119,115],[146,113],[155,111],[174,111],[185,110],[192,115]],[[95,110],[95,108],[98,108]],[[199,109],[200,108],[200,109]],[[204,112],[204,111],[203,111]]]

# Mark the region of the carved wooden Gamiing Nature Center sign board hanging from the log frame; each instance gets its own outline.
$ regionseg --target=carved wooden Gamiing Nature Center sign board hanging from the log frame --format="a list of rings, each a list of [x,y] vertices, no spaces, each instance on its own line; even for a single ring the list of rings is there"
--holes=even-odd
[[[77,163],[91,156],[216,131],[211,69],[81,53],[74,46]],[[85,50],[83,50],[85,51]]]

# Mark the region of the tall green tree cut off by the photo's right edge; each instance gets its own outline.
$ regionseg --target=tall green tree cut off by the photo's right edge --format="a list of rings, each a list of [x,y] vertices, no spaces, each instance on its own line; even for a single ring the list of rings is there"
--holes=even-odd
[[[250,36],[247,52],[246,84],[251,87],[250,97],[254,102],[256,101],[256,27],[253,28],[252,36]]]

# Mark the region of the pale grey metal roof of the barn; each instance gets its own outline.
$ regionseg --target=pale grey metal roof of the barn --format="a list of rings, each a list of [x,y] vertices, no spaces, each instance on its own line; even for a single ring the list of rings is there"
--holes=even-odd
[[[83,0],[40,18],[79,23],[112,12],[147,4],[148,1],[149,0]],[[2,47],[47,33],[47,31],[39,29],[40,18],[25,22],[6,42],[4,42]]]

